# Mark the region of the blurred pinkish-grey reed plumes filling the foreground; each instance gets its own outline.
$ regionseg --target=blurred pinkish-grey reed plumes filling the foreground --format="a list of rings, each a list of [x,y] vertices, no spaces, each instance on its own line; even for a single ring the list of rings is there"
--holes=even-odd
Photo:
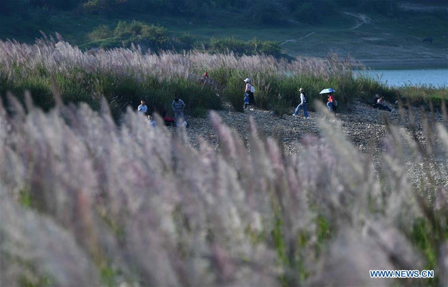
[[[1,286],[448,284],[446,117],[424,119],[424,146],[388,126],[376,173],[337,121],[287,156],[253,121],[246,144],[212,113],[217,152],[130,110],[116,126],[106,100],[101,113],[8,102]],[[376,269],[435,278],[371,279]]]

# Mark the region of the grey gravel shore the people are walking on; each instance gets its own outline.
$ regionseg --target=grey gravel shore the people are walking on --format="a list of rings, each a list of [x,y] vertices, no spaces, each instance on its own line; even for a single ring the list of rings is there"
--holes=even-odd
[[[393,106],[389,104],[389,106]],[[300,140],[304,135],[316,135],[320,134],[320,127],[318,125],[318,119],[323,116],[318,112],[309,112],[310,118],[304,118],[303,112],[299,113],[299,116],[292,116],[291,113],[278,117],[272,115],[268,110],[246,110],[245,112],[235,112],[227,104],[224,105],[223,110],[216,111],[223,119],[225,125],[235,129],[238,134],[244,139],[247,139],[248,134],[248,122],[249,117],[252,116],[253,120],[258,128],[259,133],[264,133],[267,136],[276,136],[281,133],[283,138],[284,150],[287,154],[294,154],[300,151]],[[418,107],[412,108],[412,114],[415,121],[415,129],[418,140],[425,145],[426,138],[423,133],[422,118],[431,116],[430,113],[421,110]],[[410,117],[409,110],[404,110],[404,117],[400,114],[398,109],[392,112],[374,109],[371,106],[359,101],[354,101],[342,108],[338,109],[336,119],[340,122],[341,132],[345,137],[352,142],[361,152],[367,153],[373,147],[372,160],[375,165],[379,163],[381,157],[381,151],[384,150],[383,139],[386,138],[386,124],[387,119],[393,125],[404,128],[409,132],[410,130]],[[436,112],[434,114],[436,121],[443,121],[442,114]],[[219,149],[218,137],[213,130],[212,123],[209,117],[198,118],[186,116],[186,120],[189,123],[187,128],[187,140],[191,146],[197,147],[199,145],[199,137],[205,138],[209,144]],[[329,124],[335,124],[329,120]],[[174,131],[174,127],[169,127]],[[444,164],[444,163],[442,163]],[[421,171],[412,168],[412,164],[409,164],[408,171],[410,176],[414,179],[418,178],[418,174]],[[443,172],[443,175],[436,175],[434,171],[434,177],[437,178],[437,182],[444,186],[448,186],[447,172]]]

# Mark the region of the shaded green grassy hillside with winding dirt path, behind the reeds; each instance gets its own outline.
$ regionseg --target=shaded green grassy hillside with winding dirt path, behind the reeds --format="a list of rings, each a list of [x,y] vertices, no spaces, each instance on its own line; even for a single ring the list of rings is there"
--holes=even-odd
[[[256,37],[278,41],[282,52],[293,57],[325,58],[334,51],[342,57],[351,55],[356,60],[380,66],[448,66],[446,2],[400,4],[394,14],[342,5],[343,1],[336,3],[340,5],[332,6],[331,14],[317,14],[316,20],[306,19],[303,15],[280,15],[279,21],[260,20],[265,17],[260,11],[259,17],[254,14],[248,18],[241,14],[240,9],[221,6],[210,8],[205,14],[197,11],[176,14],[135,10],[89,14],[80,9],[32,6],[1,15],[0,38],[33,42],[40,37],[39,30],[47,34],[57,31],[66,41],[81,48],[111,47],[121,41],[92,41],[88,34],[99,25],[107,25],[113,30],[120,20],[138,20],[166,27],[167,33],[174,38],[188,33],[194,46],[199,48],[212,37],[235,37],[246,41]],[[250,11],[252,8],[247,9]],[[426,37],[432,37],[433,42],[423,42]]]

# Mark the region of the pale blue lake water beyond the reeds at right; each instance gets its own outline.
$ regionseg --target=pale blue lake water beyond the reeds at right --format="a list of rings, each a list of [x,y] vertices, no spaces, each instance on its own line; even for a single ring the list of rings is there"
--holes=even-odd
[[[393,87],[403,85],[448,87],[448,69],[353,71],[354,77],[358,74],[378,78],[381,82]]]

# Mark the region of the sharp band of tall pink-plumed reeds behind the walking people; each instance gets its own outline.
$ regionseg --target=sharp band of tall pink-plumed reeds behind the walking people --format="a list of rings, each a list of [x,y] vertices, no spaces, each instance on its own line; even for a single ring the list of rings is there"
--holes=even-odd
[[[321,100],[324,88],[337,91],[343,103],[353,97],[370,97],[381,90],[393,91],[373,79],[352,78],[349,59],[330,55],[327,61],[297,59],[288,61],[272,56],[236,57],[233,53],[214,54],[191,51],[158,54],[143,53],[139,47],[82,52],[67,42],[56,42],[45,35],[33,45],[0,41],[0,93],[21,97],[30,91],[36,105],[54,106],[51,77],[61,87],[65,102],[87,102],[94,109],[104,96],[117,118],[127,105],[134,108],[145,98],[151,109],[169,111],[174,96],[180,96],[193,109],[219,109],[224,97],[235,110],[242,111],[243,79],[253,80],[260,108],[287,109],[297,105],[298,89],[304,88],[310,101]],[[199,75],[208,72],[213,85],[203,85]],[[218,94],[218,95],[217,95]]]

